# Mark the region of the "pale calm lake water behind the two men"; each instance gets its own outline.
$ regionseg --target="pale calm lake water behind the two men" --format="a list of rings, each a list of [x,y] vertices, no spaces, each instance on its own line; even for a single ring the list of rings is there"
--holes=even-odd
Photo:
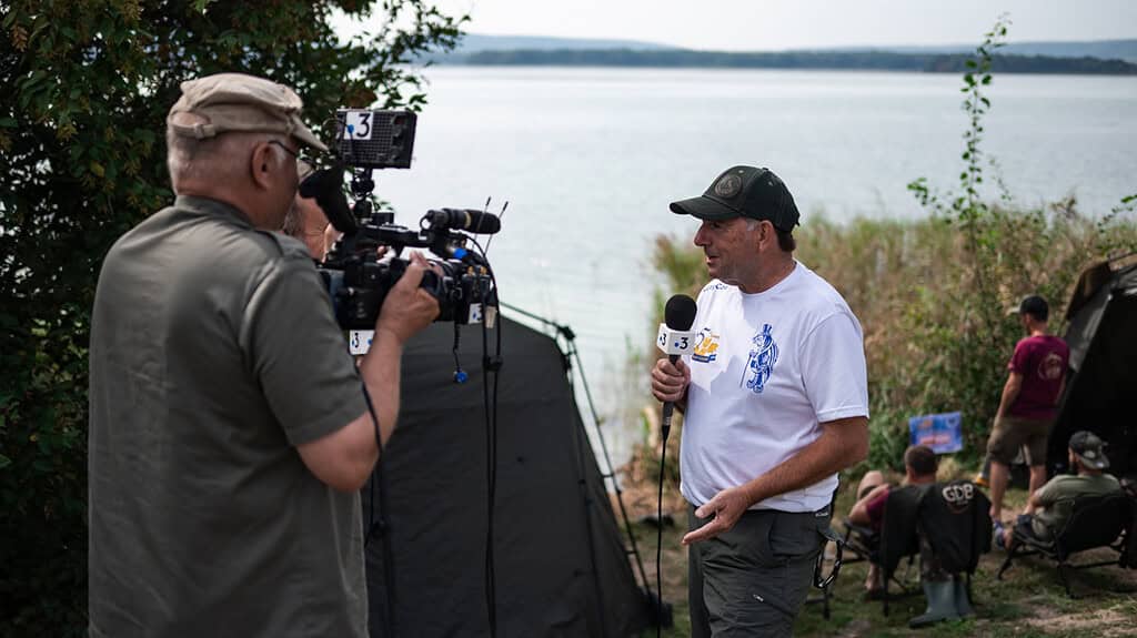
[[[697,226],[669,202],[750,163],[782,177],[803,226],[911,218],[924,212],[908,182],[952,187],[962,168],[955,75],[442,67],[428,78],[414,166],[377,173],[376,193],[409,227],[430,208],[509,202],[490,249],[500,297],[575,330],[617,463],[639,436],[620,408],[634,391],[628,353],[654,337],[653,240]],[[1020,202],[1074,194],[1101,215],[1137,193],[1137,78],[1001,75],[988,95],[984,148]]]

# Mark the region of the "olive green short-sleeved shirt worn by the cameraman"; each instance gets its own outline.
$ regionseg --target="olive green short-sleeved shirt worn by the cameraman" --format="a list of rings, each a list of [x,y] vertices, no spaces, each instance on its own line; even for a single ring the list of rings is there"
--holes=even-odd
[[[296,446],[366,410],[304,244],[180,196],[119,238],[91,321],[96,637],[363,637],[357,493]]]

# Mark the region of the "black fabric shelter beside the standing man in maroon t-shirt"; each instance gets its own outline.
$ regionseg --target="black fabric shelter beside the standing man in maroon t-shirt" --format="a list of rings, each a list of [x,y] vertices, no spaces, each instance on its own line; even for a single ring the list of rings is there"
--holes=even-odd
[[[1132,260],[1130,260],[1132,261]],[[1067,312],[1070,372],[1054,429],[1048,463],[1067,469],[1067,444],[1090,430],[1109,446],[1110,472],[1137,473],[1137,263],[1098,263],[1085,272]]]

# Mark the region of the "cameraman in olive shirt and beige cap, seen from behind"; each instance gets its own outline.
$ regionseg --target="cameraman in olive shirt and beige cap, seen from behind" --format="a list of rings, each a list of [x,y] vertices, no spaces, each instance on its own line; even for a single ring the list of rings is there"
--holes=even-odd
[[[272,232],[300,146],[326,151],[300,109],[257,77],[183,83],[166,119],[177,198],[103,262],[93,637],[366,635],[357,489],[395,429],[402,344],[439,308],[415,255],[356,369],[305,246]]]

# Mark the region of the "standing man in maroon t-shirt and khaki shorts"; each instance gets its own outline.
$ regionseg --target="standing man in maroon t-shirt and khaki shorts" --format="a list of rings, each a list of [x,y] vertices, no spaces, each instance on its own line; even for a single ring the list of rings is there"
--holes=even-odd
[[[1059,397],[1065,384],[1070,349],[1060,337],[1046,334],[1049,307],[1030,295],[1019,305],[1019,319],[1027,338],[1014,346],[1003,397],[995,414],[987,454],[990,457],[991,520],[999,522],[1011,461],[1026,446],[1030,465],[1030,493],[1046,482],[1046,437],[1054,422]]]

